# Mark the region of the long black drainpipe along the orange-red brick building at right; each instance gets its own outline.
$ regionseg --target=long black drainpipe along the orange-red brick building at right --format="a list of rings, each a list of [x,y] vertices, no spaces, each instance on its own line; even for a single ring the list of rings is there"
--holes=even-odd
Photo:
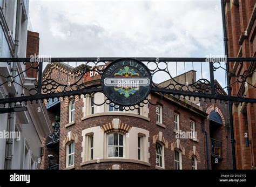
[[[223,22],[223,36],[224,36],[224,49],[225,55],[228,57],[228,48],[227,48],[227,31],[226,31],[226,18],[225,18],[225,5],[226,2],[221,0],[221,13],[222,13],[222,22]],[[226,62],[226,74],[227,74],[227,85],[230,85],[230,78],[228,72],[230,71],[230,67],[228,66],[228,62]],[[231,95],[231,87],[227,87],[227,94]],[[235,159],[235,140],[234,140],[234,126],[233,126],[233,112],[232,112],[232,103],[228,101],[228,115],[229,122],[230,122],[230,134],[231,134],[231,147],[232,147],[232,162],[233,162],[233,169],[237,169],[236,159]]]

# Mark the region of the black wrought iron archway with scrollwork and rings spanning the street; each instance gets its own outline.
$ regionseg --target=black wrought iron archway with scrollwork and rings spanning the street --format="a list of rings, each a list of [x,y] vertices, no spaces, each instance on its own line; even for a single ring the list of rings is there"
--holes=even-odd
[[[26,70],[23,70],[16,74],[15,77],[12,75],[5,75],[3,72],[0,73],[0,77],[5,80],[4,82],[0,82],[0,86],[2,85],[16,85],[24,88],[27,94],[17,93],[16,95],[6,95],[5,99],[0,99],[0,107],[6,107],[6,104],[14,103],[15,105],[21,104],[22,102],[43,102],[44,100],[48,100],[50,98],[65,98],[74,95],[85,95],[85,94],[94,94],[97,92],[103,92],[102,87],[99,82],[93,85],[86,85],[82,82],[83,76],[90,72],[97,72],[97,74],[101,77],[104,72],[103,66],[106,66],[107,63],[117,60],[119,58],[51,58],[50,60],[54,63],[66,63],[69,66],[69,63],[80,63],[83,66],[83,70],[80,70],[78,74],[76,74],[76,82],[63,84],[58,82],[58,80],[54,80],[52,78],[47,78],[43,80],[43,63],[49,64],[49,62],[45,62],[45,59],[39,58],[36,62],[31,61],[30,58],[0,58],[1,62],[5,62],[8,65],[11,63],[30,63],[29,67],[27,66]],[[256,58],[226,58],[226,63],[251,63],[254,67],[254,71],[247,74],[235,74],[234,72],[228,71],[221,66],[220,61],[215,59],[208,58],[133,58],[139,61],[142,61],[148,68],[151,73],[151,76],[154,77],[157,73],[164,73],[169,77],[170,83],[163,85],[156,84],[152,82],[153,86],[151,88],[151,93],[158,93],[161,96],[178,96],[178,97],[187,97],[189,100],[193,99],[206,99],[213,102],[226,102],[231,101],[235,103],[256,103],[255,98],[249,98],[246,95],[242,96],[231,96],[223,92],[223,89],[230,89],[231,85],[235,82],[239,82],[239,84],[243,86],[250,85],[253,89],[254,85],[250,84],[250,82],[246,82],[246,79],[250,77],[255,72],[255,61]],[[50,63],[52,63],[50,62]],[[196,82],[192,82],[191,84],[181,84],[171,73],[172,65],[176,63],[176,71],[177,71],[177,63],[184,63],[185,68],[186,64],[190,63],[194,66],[194,63],[199,63],[201,65],[206,63],[208,66],[208,73],[210,74],[210,79],[201,78]],[[204,64],[205,65],[205,64]],[[100,68],[99,68],[100,67]],[[227,85],[225,88],[219,87],[219,85],[214,81],[214,72],[218,69],[223,69],[226,71],[230,77],[234,77],[235,81],[232,84]],[[26,72],[30,70],[35,70],[38,72],[38,79],[36,81],[35,87],[26,87],[22,85],[20,82],[16,81],[16,77],[21,76],[23,74],[26,77]],[[256,89],[255,89],[256,90]],[[111,103],[109,99],[106,99],[104,103]],[[96,105],[103,105],[104,103],[95,103]],[[149,99],[145,99],[141,103],[137,103],[136,105],[126,107],[128,109],[134,109],[138,106],[143,106],[145,103],[151,103]],[[115,103],[114,103],[115,104]],[[151,103],[156,104],[156,103]]]

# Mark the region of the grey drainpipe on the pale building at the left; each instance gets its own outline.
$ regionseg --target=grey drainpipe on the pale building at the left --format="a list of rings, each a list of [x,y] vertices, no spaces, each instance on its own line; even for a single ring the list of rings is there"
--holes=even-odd
[[[21,25],[21,0],[17,0],[17,9],[16,9],[16,26],[15,26],[15,48],[14,48],[14,58],[18,57],[18,46],[19,46],[19,26]],[[17,64],[16,62],[12,63],[12,77],[15,77],[17,72]],[[13,78],[13,81],[15,78]],[[14,93],[16,95],[16,93]],[[14,103],[11,103],[11,107],[15,107]],[[15,130],[15,113],[11,112],[8,114],[8,123],[7,130],[12,132]],[[6,148],[5,148],[5,163],[4,169],[11,169],[12,162],[12,147],[14,145],[14,140],[12,138],[8,138],[6,140]]]

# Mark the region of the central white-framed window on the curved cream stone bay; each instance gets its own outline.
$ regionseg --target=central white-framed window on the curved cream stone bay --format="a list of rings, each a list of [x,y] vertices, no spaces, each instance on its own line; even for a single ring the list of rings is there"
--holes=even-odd
[[[107,136],[107,156],[124,157],[124,135],[113,133]]]

